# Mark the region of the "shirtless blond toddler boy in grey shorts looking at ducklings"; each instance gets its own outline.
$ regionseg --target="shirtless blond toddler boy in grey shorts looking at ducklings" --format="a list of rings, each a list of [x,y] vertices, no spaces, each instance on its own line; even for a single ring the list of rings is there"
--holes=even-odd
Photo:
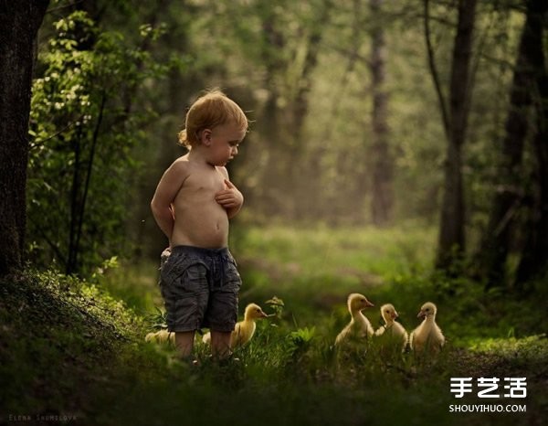
[[[241,286],[227,248],[228,219],[244,197],[228,178],[227,162],[248,131],[246,114],[221,91],[198,98],[179,141],[190,151],[174,161],[156,188],[151,208],[169,240],[160,287],[167,326],[182,357],[192,354],[195,331],[211,329],[214,357],[229,354]]]

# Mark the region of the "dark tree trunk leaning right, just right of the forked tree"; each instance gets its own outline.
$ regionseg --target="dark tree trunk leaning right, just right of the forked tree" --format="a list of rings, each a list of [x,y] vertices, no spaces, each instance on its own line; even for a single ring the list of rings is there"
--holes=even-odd
[[[511,85],[510,106],[505,123],[506,134],[502,141],[502,158],[499,165],[501,181],[493,199],[488,228],[479,252],[479,270],[480,274],[487,279],[488,289],[504,283],[506,260],[511,245],[511,230],[515,213],[522,203],[520,184],[522,156],[529,127],[535,61],[538,63],[541,60],[540,67],[543,68],[543,32],[538,13],[541,7],[539,4],[543,3],[538,0],[528,2]],[[539,50],[540,58],[538,58]],[[545,172],[541,171],[541,175],[543,173]]]

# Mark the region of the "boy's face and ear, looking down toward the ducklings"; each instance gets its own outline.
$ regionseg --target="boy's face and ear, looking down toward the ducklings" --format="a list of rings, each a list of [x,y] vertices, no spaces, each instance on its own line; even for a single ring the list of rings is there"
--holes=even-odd
[[[246,136],[246,131],[236,124],[227,123],[214,127],[205,134],[208,146],[207,162],[211,165],[227,165],[237,155],[237,147]]]

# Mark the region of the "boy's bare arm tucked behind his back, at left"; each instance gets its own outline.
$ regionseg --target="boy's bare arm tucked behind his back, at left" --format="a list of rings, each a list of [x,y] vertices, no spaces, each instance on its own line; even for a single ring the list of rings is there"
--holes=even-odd
[[[156,187],[153,200],[151,201],[151,209],[153,217],[162,229],[163,233],[169,240],[171,247],[171,237],[174,231],[174,210],[172,203],[179,189],[186,178],[186,166],[184,162],[175,161],[163,174],[160,183]]]

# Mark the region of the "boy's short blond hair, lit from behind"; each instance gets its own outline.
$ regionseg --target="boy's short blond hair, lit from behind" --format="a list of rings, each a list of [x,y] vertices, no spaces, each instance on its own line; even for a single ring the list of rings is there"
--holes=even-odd
[[[200,132],[227,122],[236,124],[241,130],[248,130],[248,117],[235,101],[218,89],[207,91],[186,112],[184,130],[179,132],[179,144],[190,149],[198,144]]]

